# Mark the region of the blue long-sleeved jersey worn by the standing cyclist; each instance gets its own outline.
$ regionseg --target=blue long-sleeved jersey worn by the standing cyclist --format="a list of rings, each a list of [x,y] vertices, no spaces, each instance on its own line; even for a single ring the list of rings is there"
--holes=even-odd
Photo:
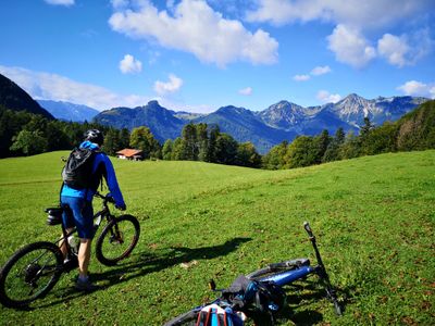
[[[88,148],[91,150],[98,150],[98,146],[88,140],[80,143],[80,148]],[[92,176],[102,175],[105,178],[109,190],[115,200],[116,205],[124,206],[124,198],[121,193],[120,186],[117,185],[115,171],[113,168],[112,162],[109,160],[108,155],[102,152],[97,152],[95,154],[94,165],[92,165]],[[99,178],[98,178],[99,179]],[[74,189],[65,184],[62,187],[61,196],[65,197],[76,197],[84,198],[87,201],[92,201],[94,195],[98,189],[98,181],[88,189]]]

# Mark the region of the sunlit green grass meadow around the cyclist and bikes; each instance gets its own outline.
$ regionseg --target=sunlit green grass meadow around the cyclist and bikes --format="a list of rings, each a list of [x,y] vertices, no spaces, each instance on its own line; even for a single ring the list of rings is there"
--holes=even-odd
[[[18,247],[59,235],[44,209],[58,201],[66,154],[0,160],[0,264]],[[141,225],[132,256],[115,267],[92,260],[92,277],[104,286],[97,292],[75,292],[71,272],[27,311],[0,306],[1,325],[161,325],[212,298],[210,278],[227,287],[266,263],[313,260],[303,221],[345,313],[335,316],[309,278],[287,287],[282,325],[435,323],[435,151],[277,172],[113,163],[127,212]]]

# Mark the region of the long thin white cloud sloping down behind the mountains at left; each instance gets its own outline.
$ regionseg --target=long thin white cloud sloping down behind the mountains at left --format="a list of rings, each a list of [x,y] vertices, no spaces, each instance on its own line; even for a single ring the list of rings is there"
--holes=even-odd
[[[15,82],[34,99],[67,101],[98,110],[114,106],[145,105],[151,98],[138,95],[120,95],[107,88],[84,84],[49,73],[0,65],[0,73]]]

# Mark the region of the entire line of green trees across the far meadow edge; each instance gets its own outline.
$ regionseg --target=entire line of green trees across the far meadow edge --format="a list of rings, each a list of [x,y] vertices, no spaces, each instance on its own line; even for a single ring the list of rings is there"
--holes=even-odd
[[[70,150],[83,140],[87,129],[105,135],[103,150],[110,154],[124,148],[142,150],[145,159],[187,160],[262,167],[294,168],[386,152],[435,148],[435,101],[428,101],[397,122],[375,127],[365,117],[359,134],[343,128],[330,135],[298,136],[283,141],[261,156],[251,142],[237,142],[215,125],[187,124],[181,137],[161,145],[148,127],[115,129],[95,123],[49,120],[41,115],[0,106],[0,158]]]

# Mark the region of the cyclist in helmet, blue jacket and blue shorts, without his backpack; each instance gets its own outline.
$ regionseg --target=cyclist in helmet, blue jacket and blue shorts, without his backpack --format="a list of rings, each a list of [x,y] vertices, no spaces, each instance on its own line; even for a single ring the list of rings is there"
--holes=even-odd
[[[89,175],[89,187],[73,188],[65,183],[61,189],[62,205],[70,206],[72,214],[63,214],[63,223],[70,231],[74,226],[80,239],[78,249],[78,277],[75,284],[77,290],[91,291],[98,287],[89,280],[88,266],[90,260],[90,247],[94,238],[94,209],[92,198],[96,193],[102,176],[111,191],[111,196],[115,201],[115,206],[122,211],[126,209],[123,196],[117,185],[115,172],[112,162],[108,155],[100,151],[100,147],[104,141],[103,134],[98,129],[90,129],[85,133],[85,140],[80,143],[80,148],[92,150],[94,162],[91,175]],[[61,250],[66,254],[65,246],[61,246]]]

